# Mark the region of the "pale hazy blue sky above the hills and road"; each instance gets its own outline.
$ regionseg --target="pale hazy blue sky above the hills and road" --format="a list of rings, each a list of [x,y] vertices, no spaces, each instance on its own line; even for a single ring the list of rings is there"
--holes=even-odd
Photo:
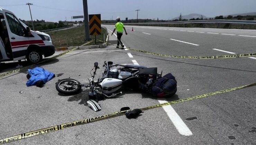
[[[30,6],[33,20],[71,21],[72,16],[83,15],[83,0],[0,0],[0,7],[22,20],[31,20],[28,2],[33,3]],[[139,19],[168,20],[180,13],[215,17],[256,12],[256,0],[88,0],[88,13],[101,14],[101,20],[136,19],[138,9]]]

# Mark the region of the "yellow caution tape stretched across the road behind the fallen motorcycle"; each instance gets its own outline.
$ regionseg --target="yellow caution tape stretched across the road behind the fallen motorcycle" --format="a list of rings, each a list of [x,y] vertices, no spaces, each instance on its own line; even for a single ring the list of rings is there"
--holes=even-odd
[[[99,41],[101,41],[101,40],[99,40]],[[101,42],[103,42],[103,41],[101,41]],[[105,43],[107,43],[107,42],[105,42]],[[108,43],[108,44],[113,45],[111,43]],[[117,46],[117,45],[113,45],[113,46]],[[173,58],[189,58],[189,59],[221,59],[221,58],[238,58],[238,57],[256,56],[256,52],[255,53],[248,53],[248,54],[219,55],[219,56],[175,56],[175,55],[157,54],[155,52],[150,52],[150,51],[146,51],[146,50],[139,50],[139,49],[134,49],[134,48],[126,48],[126,49],[132,50],[132,51],[137,51],[137,52],[142,52],[142,53],[145,53],[145,54],[151,54],[151,55],[158,55],[158,56],[164,56],[164,57],[173,57]]]

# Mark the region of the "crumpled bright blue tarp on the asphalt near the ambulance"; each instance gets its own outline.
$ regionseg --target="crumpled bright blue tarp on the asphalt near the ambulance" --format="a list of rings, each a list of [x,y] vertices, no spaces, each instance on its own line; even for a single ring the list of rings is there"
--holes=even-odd
[[[45,84],[47,81],[51,80],[55,75],[52,72],[45,70],[42,67],[35,67],[33,69],[28,69],[28,74],[31,76],[27,81],[27,86],[33,86],[37,81],[42,80]]]

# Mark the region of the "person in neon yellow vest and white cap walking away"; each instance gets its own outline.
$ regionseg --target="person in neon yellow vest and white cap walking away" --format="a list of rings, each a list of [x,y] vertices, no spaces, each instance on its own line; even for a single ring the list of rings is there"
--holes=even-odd
[[[120,17],[117,17],[117,23],[115,25],[115,29],[113,30],[111,36],[113,35],[113,33],[116,31],[117,29],[117,48],[119,48],[119,44],[122,46],[122,48],[124,48],[124,44],[122,43],[121,41],[121,37],[123,35],[123,28],[125,30],[125,34],[127,35],[127,32],[126,32],[126,29],[125,29],[125,26],[122,22],[120,22]]]

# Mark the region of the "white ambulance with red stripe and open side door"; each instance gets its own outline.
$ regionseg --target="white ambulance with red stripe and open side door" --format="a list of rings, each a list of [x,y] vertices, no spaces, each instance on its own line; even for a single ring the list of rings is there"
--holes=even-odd
[[[27,59],[37,63],[55,53],[51,37],[33,31],[11,11],[0,7],[0,62]]]

